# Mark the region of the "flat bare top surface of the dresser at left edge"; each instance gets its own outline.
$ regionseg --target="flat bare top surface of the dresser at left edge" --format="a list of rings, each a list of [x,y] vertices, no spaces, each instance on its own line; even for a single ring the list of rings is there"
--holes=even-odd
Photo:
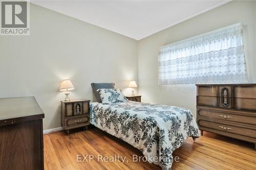
[[[44,118],[44,112],[33,96],[0,99],[0,120],[35,115]]]

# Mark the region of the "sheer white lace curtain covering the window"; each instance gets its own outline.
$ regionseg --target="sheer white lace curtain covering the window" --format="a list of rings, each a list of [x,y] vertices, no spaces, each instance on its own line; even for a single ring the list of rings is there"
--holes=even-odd
[[[162,46],[158,62],[161,85],[248,81],[241,23]]]

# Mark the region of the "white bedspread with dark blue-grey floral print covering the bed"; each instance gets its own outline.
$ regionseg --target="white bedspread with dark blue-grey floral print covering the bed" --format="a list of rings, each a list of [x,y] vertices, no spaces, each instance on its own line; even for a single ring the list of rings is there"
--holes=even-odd
[[[172,169],[172,153],[187,137],[200,136],[193,115],[185,108],[132,101],[92,102],[90,107],[92,125],[130,143],[163,170]]]

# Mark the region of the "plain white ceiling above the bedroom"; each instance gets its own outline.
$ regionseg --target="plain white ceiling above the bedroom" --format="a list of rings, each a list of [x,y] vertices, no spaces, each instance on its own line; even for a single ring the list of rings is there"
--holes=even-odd
[[[33,4],[140,40],[228,1],[33,1]]]

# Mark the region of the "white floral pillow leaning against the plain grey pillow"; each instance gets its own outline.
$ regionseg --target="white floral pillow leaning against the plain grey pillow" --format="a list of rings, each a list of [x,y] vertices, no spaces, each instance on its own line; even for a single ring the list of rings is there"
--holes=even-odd
[[[121,103],[128,101],[123,95],[121,89],[101,88],[97,91],[99,92],[100,99],[103,104]]]

